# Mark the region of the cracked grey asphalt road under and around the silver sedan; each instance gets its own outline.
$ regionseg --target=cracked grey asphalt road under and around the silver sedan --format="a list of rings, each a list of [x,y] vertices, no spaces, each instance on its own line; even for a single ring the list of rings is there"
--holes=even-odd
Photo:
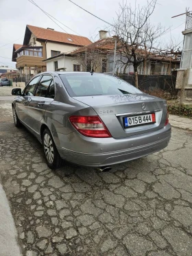
[[[0,102],[1,182],[23,255],[191,256],[192,132],[99,173],[47,168],[40,143]]]

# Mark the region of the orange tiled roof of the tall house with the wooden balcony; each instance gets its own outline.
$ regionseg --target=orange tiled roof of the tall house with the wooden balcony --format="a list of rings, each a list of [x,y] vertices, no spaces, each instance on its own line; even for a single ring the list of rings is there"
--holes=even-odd
[[[32,25],[27,25],[27,27],[38,39],[82,46],[92,43],[91,40],[84,36],[76,36],[73,34],[62,33],[55,30],[45,29],[43,27],[35,27]]]

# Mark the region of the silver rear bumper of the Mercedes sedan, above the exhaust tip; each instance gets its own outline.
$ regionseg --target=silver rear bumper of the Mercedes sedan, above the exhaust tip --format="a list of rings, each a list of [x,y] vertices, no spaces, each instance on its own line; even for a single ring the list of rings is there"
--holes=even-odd
[[[133,159],[138,159],[147,154],[152,154],[166,148],[171,139],[171,126],[168,124],[163,129],[155,132],[145,133],[140,136],[126,139],[109,138],[108,151],[98,153],[98,143],[95,143],[95,152],[93,147],[89,148],[90,141],[87,141],[87,152],[78,152],[67,148],[58,148],[62,159],[77,163],[79,165],[99,167],[105,165],[114,165]],[[119,144],[120,143],[120,144]],[[126,145],[126,147],[125,147]],[[101,146],[104,146],[103,144]],[[81,148],[81,147],[80,147]],[[118,149],[117,151],[111,151]]]

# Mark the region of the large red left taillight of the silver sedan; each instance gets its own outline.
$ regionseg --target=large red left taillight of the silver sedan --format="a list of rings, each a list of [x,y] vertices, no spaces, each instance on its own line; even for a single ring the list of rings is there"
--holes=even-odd
[[[111,137],[108,128],[104,125],[101,119],[96,116],[82,117],[78,115],[72,115],[69,117],[71,124],[86,137],[94,138],[109,138]]]

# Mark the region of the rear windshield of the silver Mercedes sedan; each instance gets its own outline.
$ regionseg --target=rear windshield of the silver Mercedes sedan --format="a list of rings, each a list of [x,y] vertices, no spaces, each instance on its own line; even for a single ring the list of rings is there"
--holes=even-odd
[[[111,75],[84,73],[60,75],[71,97],[142,93],[128,82]]]

